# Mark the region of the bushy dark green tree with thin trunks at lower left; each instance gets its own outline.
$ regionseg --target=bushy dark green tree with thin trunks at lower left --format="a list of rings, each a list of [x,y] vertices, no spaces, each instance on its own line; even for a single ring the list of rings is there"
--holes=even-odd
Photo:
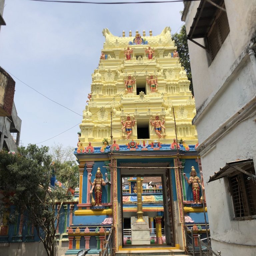
[[[60,209],[67,199],[72,167],[65,176],[64,187],[49,186],[53,173],[52,156],[48,147],[28,145],[20,147],[15,155],[0,152],[0,190],[4,191],[5,206],[14,205],[16,212],[11,212],[10,221],[19,213],[26,216],[33,224],[37,235],[43,242],[48,256],[56,255],[56,227],[59,223]],[[64,163],[65,164],[65,163]],[[56,172],[59,167],[55,166]],[[7,200],[6,200],[7,199]],[[56,212],[56,202],[60,204]],[[1,208],[3,210],[3,208]]]

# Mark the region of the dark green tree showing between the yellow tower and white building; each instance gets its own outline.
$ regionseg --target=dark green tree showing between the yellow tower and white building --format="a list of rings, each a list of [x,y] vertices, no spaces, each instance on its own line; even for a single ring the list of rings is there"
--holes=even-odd
[[[188,80],[190,81],[189,90],[194,96],[193,82],[192,82],[191,68],[190,68],[190,58],[189,58],[189,52],[188,52],[187,32],[186,32],[185,25],[181,27],[180,33],[175,33],[172,35],[172,40],[175,41],[175,45],[177,46],[177,52],[180,57],[180,63],[187,72],[187,77],[188,77]]]

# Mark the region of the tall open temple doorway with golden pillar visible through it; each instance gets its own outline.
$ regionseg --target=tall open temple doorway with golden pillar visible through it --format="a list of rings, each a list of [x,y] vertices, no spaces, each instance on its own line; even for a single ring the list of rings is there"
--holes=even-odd
[[[138,176],[141,180],[143,220],[149,231],[146,239],[148,241],[142,241],[140,245],[175,246],[169,169],[132,168],[121,168],[122,245],[138,246],[138,241],[133,242],[132,231],[132,226],[137,221],[137,201],[140,200]]]

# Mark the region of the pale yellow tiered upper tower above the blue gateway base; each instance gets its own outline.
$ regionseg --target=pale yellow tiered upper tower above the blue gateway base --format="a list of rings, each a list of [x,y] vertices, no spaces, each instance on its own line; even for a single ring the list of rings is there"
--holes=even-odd
[[[176,138],[173,109],[178,141],[182,139],[190,145],[197,143],[196,127],[191,124],[196,112],[189,90],[190,81],[179,62],[170,32],[170,27],[165,27],[157,36],[153,36],[152,31],[149,36],[145,31],[142,35],[136,31],[132,36],[130,31],[129,36],[123,32],[123,37],[118,37],[107,28],[103,29],[105,42],[100,63],[92,74],[91,94],[80,124],[83,146],[88,142],[102,146],[103,138],[110,143],[111,111],[113,139],[117,144],[143,139],[171,144]],[[152,55],[149,47],[153,50]],[[132,89],[127,83],[129,79]],[[150,83],[154,85],[151,88]],[[135,122],[127,139],[122,123],[125,124],[128,114]],[[150,118],[154,122],[157,114],[165,127],[161,127],[162,138],[150,123]]]

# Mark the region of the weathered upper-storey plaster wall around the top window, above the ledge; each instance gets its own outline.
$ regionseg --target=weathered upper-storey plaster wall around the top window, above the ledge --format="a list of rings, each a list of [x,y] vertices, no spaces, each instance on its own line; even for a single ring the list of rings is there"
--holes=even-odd
[[[192,2],[190,5],[185,19],[187,33],[198,5],[199,1]],[[256,1],[226,0],[225,5],[230,33],[209,67],[206,51],[188,41],[197,110],[205,100],[211,97],[211,94],[213,96],[217,92],[230,75],[230,68],[235,60],[245,50],[252,36],[255,36]],[[203,44],[202,39],[196,41]]]

